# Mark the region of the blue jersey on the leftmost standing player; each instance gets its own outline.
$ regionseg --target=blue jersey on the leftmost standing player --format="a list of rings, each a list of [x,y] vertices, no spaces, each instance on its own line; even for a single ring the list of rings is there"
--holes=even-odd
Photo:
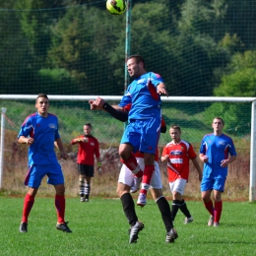
[[[42,117],[37,112],[29,115],[22,124],[18,138],[21,136],[34,140],[29,147],[29,166],[58,163],[54,151],[54,141],[60,138],[56,115],[48,113],[47,117]]]

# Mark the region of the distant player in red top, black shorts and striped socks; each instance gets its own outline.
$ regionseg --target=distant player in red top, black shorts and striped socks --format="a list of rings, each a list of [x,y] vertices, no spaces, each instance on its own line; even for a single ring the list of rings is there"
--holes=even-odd
[[[99,147],[97,139],[92,136],[92,125],[84,125],[85,135],[80,135],[71,141],[71,144],[79,144],[78,149],[78,173],[79,173],[79,194],[81,202],[89,202],[91,192],[91,178],[95,175],[95,156],[97,165],[99,162]]]

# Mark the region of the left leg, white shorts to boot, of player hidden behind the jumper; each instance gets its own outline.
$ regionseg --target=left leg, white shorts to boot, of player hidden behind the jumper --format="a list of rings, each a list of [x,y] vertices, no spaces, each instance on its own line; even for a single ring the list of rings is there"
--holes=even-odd
[[[118,178],[116,193],[121,200],[124,214],[127,218],[128,223],[130,224],[130,243],[137,241],[137,239],[139,238],[139,231],[144,228],[144,224],[138,221],[138,217],[135,212],[134,201],[130,194],[132,184],[133,173],[125,164],[123,164]]]

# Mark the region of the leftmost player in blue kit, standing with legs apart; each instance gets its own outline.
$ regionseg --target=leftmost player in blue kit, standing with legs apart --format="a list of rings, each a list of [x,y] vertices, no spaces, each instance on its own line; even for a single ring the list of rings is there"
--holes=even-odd
[[[47,183],[55,187],[55,207],[57,211],[56,228],[64,232],[72,232],[64,220],[65,186],[61,166],[54,152],[54,145],[60,150],[61,158],[68,156],[58,133],[58,118],[48,113],[49,100],[46,95],[39,94],[35,99],[37,112],[29,115],[22,124],[18,135],[19,143],[29,146],[29,170],[25,185],[29,191],[24,200],[21,232],[28,232],[28,219],[34,203],[34,197],[40,186],[41,179],[47,175]]]

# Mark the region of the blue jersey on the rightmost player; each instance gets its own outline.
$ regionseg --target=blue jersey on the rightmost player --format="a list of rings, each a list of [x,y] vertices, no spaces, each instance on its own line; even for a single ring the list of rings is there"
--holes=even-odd
[[[227,175],[227,167],[222,167],[221,161],[227,160],[228,155],[236,156],[236,151],[230,137],[225,134],[216,136],[212,133],[203,138],[200,154],[209,158],[209,161],[204,163],[203,176],[219,178]]]

